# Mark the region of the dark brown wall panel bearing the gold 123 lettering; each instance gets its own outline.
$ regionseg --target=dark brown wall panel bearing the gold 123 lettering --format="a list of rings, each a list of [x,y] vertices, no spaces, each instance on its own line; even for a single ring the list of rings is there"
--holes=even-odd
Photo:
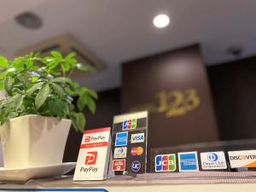
[[[171,117],[167,117],[166,110],[171,110],[169,105],[177,102],[177,97],[170,94],[183,94],[183,102],[177,107],[183,108],[187,90],[196,91],[200,99],[198,108],[186,113],[181,110],[180,114],[176,110],[176,115],[168,112]],[[163,92],[168,97],[168,109],[160,108],[159,95]],[[218,140],[207,73],[197,45],[126,62],[123,65],[121,107],[125,113],[143,108],[151,111],[151,148]]]

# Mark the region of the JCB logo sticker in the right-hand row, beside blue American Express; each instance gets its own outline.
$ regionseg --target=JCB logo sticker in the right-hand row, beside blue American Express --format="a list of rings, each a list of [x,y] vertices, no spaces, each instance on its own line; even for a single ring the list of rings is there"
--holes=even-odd
[[[155,156],[155,172],[174,172],[176,170],[175,154],[159,154]]]

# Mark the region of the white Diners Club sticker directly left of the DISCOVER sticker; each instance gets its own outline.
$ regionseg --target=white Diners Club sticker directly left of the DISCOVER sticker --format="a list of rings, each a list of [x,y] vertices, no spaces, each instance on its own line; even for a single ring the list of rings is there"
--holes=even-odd
[[[225,154],[223,151],[201,153],[202,170],[227,169]]]

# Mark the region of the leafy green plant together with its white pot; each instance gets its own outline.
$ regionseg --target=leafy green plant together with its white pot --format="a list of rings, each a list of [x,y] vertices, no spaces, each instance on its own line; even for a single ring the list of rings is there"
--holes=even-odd
[[[52,51],[30,54],[13,61],[0,56],[0,137],[7,168],[62,163],[71,124],[84,131],[82,111],[95,113],[97,94],[70,79],[74,70],[88,71],[75,54]],[[78,96],[76,106],[73,96]],[[75,112],[78,108],[79,112]]]

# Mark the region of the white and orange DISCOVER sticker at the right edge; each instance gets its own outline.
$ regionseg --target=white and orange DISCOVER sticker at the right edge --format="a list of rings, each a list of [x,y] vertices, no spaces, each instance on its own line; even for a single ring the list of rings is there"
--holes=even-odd
[[[231,168],[256,167],[256,150],[229,151]]]

